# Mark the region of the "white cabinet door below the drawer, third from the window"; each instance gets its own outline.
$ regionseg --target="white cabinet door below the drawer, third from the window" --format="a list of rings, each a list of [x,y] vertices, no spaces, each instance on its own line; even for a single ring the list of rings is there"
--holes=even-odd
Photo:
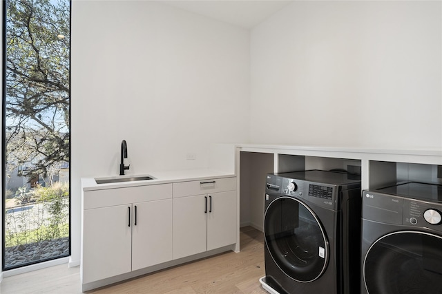
[[[173,259],[206,251],[205,195],[173,199]]]

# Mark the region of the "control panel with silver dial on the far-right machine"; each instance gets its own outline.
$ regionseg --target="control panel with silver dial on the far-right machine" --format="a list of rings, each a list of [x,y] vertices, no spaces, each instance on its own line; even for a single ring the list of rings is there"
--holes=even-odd
[[[442,231],[442,204],[404,199],[403,224],[431,227]]]

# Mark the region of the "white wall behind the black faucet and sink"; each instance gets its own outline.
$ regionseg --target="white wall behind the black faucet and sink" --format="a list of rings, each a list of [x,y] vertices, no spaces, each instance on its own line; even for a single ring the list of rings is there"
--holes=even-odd
[[[212,143],[247,141],[249,68],[247,30],[153,1],[73,1],[73,263],[80,178],[117,175],[122,139],[126,174],[205,168]]]

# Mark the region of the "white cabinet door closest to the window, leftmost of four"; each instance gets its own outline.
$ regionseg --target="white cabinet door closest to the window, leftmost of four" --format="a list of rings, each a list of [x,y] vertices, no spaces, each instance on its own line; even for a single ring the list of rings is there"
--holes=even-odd
[[[131,271],[131,204],[86,209],[82,283]]]

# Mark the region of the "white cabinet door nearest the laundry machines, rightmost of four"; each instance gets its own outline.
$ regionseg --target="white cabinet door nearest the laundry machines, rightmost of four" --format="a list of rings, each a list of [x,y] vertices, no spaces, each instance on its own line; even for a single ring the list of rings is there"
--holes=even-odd
[[[209,194],[207,250],[236,243],[236,191]]]

